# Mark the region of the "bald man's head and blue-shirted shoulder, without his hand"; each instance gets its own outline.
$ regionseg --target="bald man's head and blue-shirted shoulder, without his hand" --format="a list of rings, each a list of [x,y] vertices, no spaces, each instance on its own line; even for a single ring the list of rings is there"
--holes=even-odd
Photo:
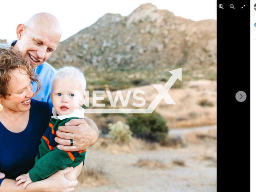
[[[25,24],[17,26],[17,38],[8,45],[17,48],[24,58],[36,66],[35,72],[41,79],[42,91],[37,94],[41,101],[51,103],[50,79],[56,70],[46,60],[56,50],[60,42],[61,28],[58,20],[51,14],[38,13]],[[36,85],[32,91],[36,91]]]

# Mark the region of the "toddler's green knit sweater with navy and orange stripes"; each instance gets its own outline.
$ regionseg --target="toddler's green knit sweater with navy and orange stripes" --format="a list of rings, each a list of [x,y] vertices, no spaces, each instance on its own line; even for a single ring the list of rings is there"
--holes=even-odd
[[[71,119],[78,118],[63,120],[51,118],[49,126],[41,138],[39,154],[35,159],[36,164],[28,172],[32,182],[43,180],[58,170],[64,170],[66,167],[76,167],[84,160],[86,149],[76,152],[63,151],[57,148],[58,143],[54,140],[58,127],[65,126],[65,123]]]

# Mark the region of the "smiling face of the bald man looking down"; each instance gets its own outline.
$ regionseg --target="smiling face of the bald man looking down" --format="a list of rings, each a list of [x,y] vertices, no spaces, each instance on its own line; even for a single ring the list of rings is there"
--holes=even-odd
[[[56,50],[60,41],[60,35],[52,33],[47,29],[30,29],[26,28],[15,48],[22,53],[24,58],[28,59],[30,63],[35,66],[41,65],[45,62]]]

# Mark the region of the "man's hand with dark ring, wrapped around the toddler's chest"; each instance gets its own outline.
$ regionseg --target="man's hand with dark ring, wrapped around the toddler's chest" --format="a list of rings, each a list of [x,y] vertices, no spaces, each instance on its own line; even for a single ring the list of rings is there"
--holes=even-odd
[[[99,132],[96,124],[89,118],[72,119],[59,126],[56,132],[55,141],[59,143],[58,148],[64,151],[80,151],[96,143]],[[70,146],[70,139],[73,140],[73,146]]]

